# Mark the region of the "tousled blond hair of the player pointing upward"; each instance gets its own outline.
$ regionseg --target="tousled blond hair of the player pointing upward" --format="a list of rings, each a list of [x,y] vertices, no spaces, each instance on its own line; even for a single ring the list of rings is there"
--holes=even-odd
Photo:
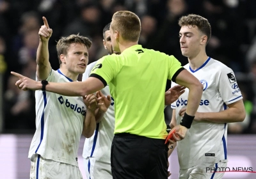
[[[56,49],[58,52],[58,59],[59,59],[60,64],[61,64],[60,55],[61,54],[65,55],[65,56],[67,55],[68,48],[70,47],[71,43],[80,43],[80,44],[86,46],[87,49],[90,49],[90,47],[92,46],[92,41],[85,36],[81,36],[79,34],[70,35],[70,36],[62,36],[56,45]]]

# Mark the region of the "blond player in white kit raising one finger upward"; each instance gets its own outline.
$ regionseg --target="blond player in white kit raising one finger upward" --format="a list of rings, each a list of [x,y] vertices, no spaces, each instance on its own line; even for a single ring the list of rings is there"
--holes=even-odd
[[[43,20],[36,56],[36,80],[42,81],[43,88],[35,92],[36,132],[29,148],[30,178],[82,178],[77,164],[79,140],[81,134],[90,137],[95,130],[97,99],[95,95],[83,100],[47,92],[44,82],[77,81],[88,63],[92,42],[79,35],[62,37],[57,43],[60,69],[53,70],[48,54],[52,29],[45,17]]]

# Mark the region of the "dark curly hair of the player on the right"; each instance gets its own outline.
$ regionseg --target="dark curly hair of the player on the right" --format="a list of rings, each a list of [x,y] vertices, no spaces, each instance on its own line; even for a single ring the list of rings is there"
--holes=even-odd
[[[179,20],[179,26],[197,26],[198,29],[207,36],[207,43],[211,38],[211,25],[207,19],[200,15],[189,14],[182,16]]]

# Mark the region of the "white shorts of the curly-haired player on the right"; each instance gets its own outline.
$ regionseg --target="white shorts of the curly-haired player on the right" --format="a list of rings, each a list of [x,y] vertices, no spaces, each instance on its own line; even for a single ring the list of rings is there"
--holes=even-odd
[[[195,166],[189,169],[180,169],[179,179],[221,179],[224,172],[218,173],[221,171],[221,167],[227,167],[227,162],[224,160],[223,162],[218,162],[216,164],[212,164],[211,166]],[[217,171],[216,173],[214,173]]]

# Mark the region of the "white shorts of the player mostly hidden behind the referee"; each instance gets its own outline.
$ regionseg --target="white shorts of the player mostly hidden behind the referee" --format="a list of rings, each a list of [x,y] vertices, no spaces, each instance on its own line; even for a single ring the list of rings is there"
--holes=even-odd
[[[96,160],[95,157],[84,159],[84,169],[87,179],[113,179],[111,165],[107,162]]]

